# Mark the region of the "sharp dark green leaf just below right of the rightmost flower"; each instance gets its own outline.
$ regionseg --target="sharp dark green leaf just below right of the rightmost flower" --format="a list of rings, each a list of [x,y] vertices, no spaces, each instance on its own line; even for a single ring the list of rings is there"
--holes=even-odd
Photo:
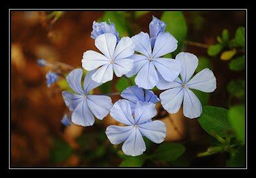
[[[225,108],[205,106],[197,121],[210,135],[212,135],[211,130],[213,130],[220,137],[226,137],[228,131],[234,131],[228,119],[228,112],[229,110]]]

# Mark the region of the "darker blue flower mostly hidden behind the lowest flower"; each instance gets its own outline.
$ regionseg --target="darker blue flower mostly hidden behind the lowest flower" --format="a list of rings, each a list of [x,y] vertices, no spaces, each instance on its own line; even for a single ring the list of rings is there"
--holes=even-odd
[[[143,88],[138,87],[138,85],[127,87],[124,89],[124,91],[122,91],[120,96],[129,100],[132,114],[134,114],[137,101],[152,103],[157,103],[160,101],[156,94],[154,94],[152,91],[149,91],[148,89],[145,89],[144,94]]]

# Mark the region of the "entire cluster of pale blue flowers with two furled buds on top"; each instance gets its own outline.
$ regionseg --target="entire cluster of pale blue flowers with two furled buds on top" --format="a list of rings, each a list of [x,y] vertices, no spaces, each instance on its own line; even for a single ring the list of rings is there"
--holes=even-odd
[[[94,116],[103,119],[110,114],[125,126],[108,126],[106,135],[112,144],[122,145],[122,151],[131,156],[143,154],[146,150],[143,136],[154,143],[161,143],[166,137],[164,122],[152,118],[157,114],[157,102],[169,113],[179,111],[183,101],[184,115],[190,119],[202,114],[202,105],[190,89],[210,93],[216,89],[216,78],[211,70],[195,73],[198,58],[188,52],[180,52],[175,59],[163,57],[177,49],[178,41],[168,31],[166,23],[153,16],[148,33],[141,32],[129,38],[119,38],[115,24],[93,22],[91,38],[99,52],[87,50],[81,60],[88,71],[81,78],[83,70],[75,69],[67,76],[70,88],[77,94],[63,91],[65,104],[72,111],[72,122],[81,126],[92,126]],[[134,54],[138,52],[139,54]],[[125,89],[122,100],[111,102],[109,96],[89,94],[92,89],[116,77],[136,75],[135,86]],[[180,79],[180,77],[181,79]],[[149,89],[157,87],[163,91],[157,98]]]

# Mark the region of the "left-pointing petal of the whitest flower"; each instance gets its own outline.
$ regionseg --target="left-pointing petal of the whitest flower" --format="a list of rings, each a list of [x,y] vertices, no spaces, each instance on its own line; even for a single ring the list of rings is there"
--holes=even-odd
[[[106,56],[103,56],[99,52],[95,52],[93,50],[88,50],[84,52],[82,59],[82,67],[85,70],[94,70],[104,64],[110,64],[110,61]]]

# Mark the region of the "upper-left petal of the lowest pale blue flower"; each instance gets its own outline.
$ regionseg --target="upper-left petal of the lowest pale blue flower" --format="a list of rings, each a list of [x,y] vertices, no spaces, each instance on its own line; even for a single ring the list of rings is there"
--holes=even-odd
[[[116,101],[110,110],[110,115],[111,117],[113,117],[113,119],[125,125],[134,124],[131,107],[130,107],[129,101],[127,100]]]

